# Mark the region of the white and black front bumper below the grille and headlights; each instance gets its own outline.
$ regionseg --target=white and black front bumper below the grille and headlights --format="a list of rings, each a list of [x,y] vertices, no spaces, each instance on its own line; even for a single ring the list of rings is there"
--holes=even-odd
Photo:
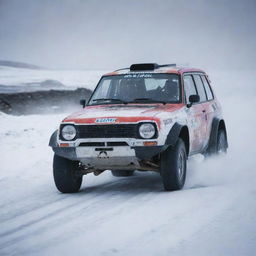
[[[49,145],[55,154],[80,161],[84,165],[96,169],[139,169],[141,161],[150,160],[165,149],[165,146],[136,146],[136,143],[130,139],[122,139],[127,143],[126,146],[110,147],[107,146],[107,142],[113,142],[113,139],[104,139],[104,141],[106,142],[104,146],[80,146],[81,141],[78,141],[73,146],[70,144],[67,147],[60,147],[56,131],[53,133]]]

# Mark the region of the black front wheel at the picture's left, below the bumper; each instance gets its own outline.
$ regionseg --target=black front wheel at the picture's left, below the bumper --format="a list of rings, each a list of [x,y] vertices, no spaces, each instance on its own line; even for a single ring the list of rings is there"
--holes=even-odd
[[[78,192],[82,177],[75,176],[75,170],[79,162],[54,155],[53,158],[53,177],[57,189],[62,193]]]

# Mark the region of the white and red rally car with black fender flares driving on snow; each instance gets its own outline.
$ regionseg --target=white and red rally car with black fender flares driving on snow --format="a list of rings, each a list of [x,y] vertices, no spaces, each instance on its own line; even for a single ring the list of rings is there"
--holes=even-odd
[[[83,109],[50,139],[53,175],[63,193],[85,174],[158,172],[167,191],[182,189],[187,158],[225,153],[227,131],[207,74],[175,64],[133,64],[103,75]]]

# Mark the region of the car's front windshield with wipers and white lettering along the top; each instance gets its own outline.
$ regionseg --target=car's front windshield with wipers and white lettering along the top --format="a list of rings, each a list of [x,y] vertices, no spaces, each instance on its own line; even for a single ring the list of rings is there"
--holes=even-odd
[[[100,80],[89,105],[180,102],[180,81],[176,74],[131,73]]]

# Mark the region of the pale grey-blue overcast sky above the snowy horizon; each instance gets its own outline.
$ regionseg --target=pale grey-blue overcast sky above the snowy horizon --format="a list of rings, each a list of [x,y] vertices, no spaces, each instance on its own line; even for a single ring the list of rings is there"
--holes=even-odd
[[[0,59],[72,69],[248,68],[255,27],[256,0],[0,0]]]

